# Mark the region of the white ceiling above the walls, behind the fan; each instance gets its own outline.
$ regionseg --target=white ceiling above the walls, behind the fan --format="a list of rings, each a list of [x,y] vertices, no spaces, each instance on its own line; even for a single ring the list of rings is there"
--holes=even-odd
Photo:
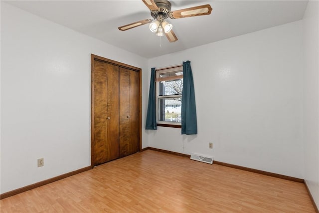
[[[114,46],[152,58],[303,18],[307,0],[171,0],[171,10],[202,4],[210,15],[167,19],[178,41],[158,37],[148,24],[127,31],[119,26],[152,18],[142,0],[10,0],[35,15]]]

